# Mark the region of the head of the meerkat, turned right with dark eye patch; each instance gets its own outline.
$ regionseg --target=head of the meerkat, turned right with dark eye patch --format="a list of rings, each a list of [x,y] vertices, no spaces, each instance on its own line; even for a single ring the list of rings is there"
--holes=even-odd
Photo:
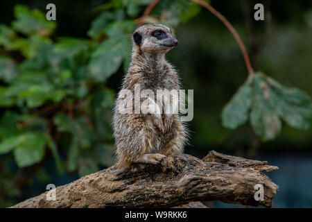
[[[167,53],[177,46],[171,28],[162,24],[146,24],[139,26],[132,36],[134,49],[143,53]]]

